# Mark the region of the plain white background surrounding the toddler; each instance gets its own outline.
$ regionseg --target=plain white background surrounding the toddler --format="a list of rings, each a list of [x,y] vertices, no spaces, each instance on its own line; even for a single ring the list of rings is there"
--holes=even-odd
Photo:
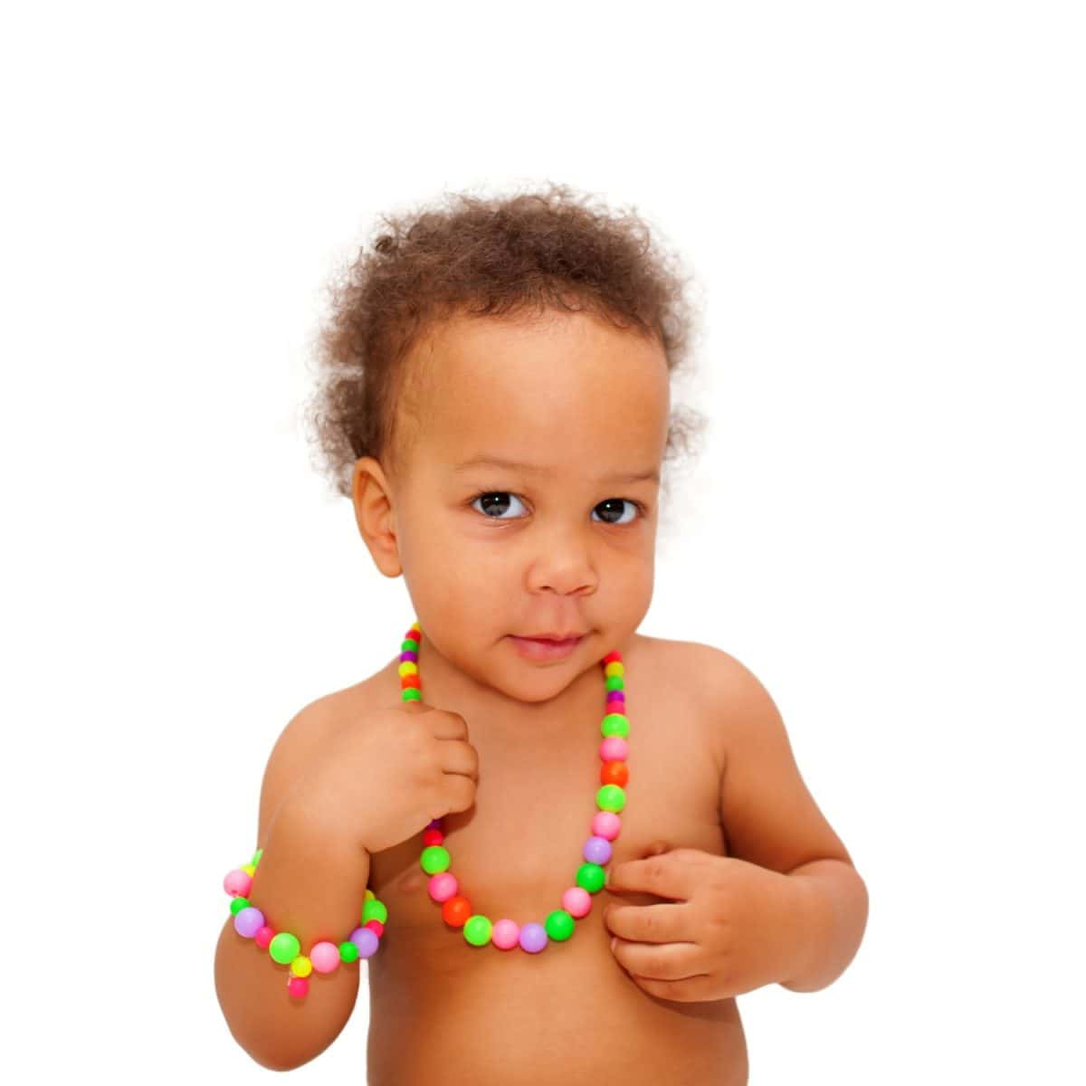
[[[740,998],[752,1083],[1082,1082],[1082,9],[393,7],[3,18],[5,1059],[267,1079],[222,877],[412,618],[299,431],[325,283],[557,180],[706,298],[642,629],[761,678],[871,894],[836,983]],[[294,1078],[362,1081],[365,999]]]

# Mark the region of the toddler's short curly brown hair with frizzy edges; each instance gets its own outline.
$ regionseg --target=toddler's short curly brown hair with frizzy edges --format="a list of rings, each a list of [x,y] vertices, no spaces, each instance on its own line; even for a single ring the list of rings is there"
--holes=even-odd
[[[563,185],[380,216],[370,241],[330,285],[331,315],[318,338],[317,388],[305,425],[334,490],[351,495],[354,463],[393,469],[409,443],[404,361],[457,313],[519,316],[588,311],[661,343],[668,371],[687,356],[697,311],[691,277],[654,244],[635,210],[610,214]],[[667,464],[706,419],[684,406],[668,420]]]

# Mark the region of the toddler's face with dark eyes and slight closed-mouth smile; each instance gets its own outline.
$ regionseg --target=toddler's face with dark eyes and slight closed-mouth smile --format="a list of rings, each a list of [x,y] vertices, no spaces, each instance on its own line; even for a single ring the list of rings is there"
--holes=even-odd
[[[433,649],[520,700],[552,697],[652,599],[664,350],[585,314],[458,317],[412,365],[418,418],[395,478],[382,475],[388,548],[367,543],[386,573],[399,564]],[[584,636],[546,662],[510,640],[547,632]]]

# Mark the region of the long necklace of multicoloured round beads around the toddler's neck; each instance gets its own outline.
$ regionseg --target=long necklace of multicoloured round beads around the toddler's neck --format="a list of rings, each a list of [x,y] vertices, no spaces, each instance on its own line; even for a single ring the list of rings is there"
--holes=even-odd
[[[422,628],[418,622],[411,628],[400,645],[400,685],[404,702],[421,702],[422,686],[418,673],[418,646],[422,640]],[[611,842],[619,835],[622,821],[619,811],[626,806],[624,785],[630,776],[626,759],[630,747],[630,721],[626,716],[626,691],[623,689],[624,668],[621,655],[615,651],[601,661],[607,693],[605,716],[599,725],[603,742],[599,744],[601,787],[596,793],[598,810],[592,819],[592,835],[581,849],[584,862],[577,869],[576,885],[561,895],[561,908],[548,913],[542,924],[530,922],[520,926],[515,921],[503,919],[491,923],[488,917],[475,913],[471,902],[459,893],[459,883],[449,870],[452,857],[445,848],[442,819],[430,822],[422,832],[422,855],[419,863],[430,876],[427,889],[433,901],[441,905],[441,918],[451,927],[463,929],[464,938],[471,946],[492,943],[501,950],[512,950],[519,946],[528,954],[539,954],[551,939],[564,943],[573,934],[576,920],[588,915],[592,909],[591,895],[597,894],[604,885],[604,868],[611,858]],[[367,906],[372,907],[371,892],[366,892]],[[381,921],[387,919],[388,911]],[[364,921],[365,921],[364,915]],[[374,918],[376,919],[376,918]]]

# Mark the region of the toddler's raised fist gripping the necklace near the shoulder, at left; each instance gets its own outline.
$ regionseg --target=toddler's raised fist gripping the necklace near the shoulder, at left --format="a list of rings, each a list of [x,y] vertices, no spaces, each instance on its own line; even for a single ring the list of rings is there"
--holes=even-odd
[[[372,854],[472,807],[478,782],[479,754],[464,718],[404,702],[333,729],[295,798],[307,818]]]

